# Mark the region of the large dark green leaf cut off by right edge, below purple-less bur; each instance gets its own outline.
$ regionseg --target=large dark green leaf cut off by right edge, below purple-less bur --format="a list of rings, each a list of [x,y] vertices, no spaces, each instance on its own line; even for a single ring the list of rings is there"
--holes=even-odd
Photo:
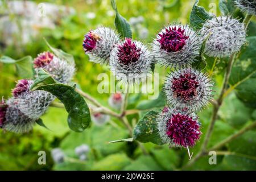
[[[256,36],[247,38],[248,45],[243,46],[229,78],[230,89],[247,106],[256,107]]]

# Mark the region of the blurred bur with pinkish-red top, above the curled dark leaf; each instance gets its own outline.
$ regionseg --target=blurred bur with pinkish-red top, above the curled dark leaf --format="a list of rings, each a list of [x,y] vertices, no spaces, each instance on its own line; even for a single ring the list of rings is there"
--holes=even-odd
[[[68,63],[68,61],[60,59],[51,52],[43,52],[34,60],[35,71],[39,68],[45,69],[55,80],[68,84],[75,74],[75,64]]]

